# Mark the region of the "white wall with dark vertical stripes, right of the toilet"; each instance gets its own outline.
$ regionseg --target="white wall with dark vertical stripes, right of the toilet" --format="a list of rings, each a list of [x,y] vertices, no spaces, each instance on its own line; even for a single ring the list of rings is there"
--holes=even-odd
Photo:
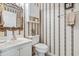
[[[74,11],[79,10],[79,4],[74,5]],[[56,56],[71,56],[72,55],[72,35],[74,38],[74,55],[79,55],[79,18],[76,14],[76,24],[73,29],[67,25],[67,17],[70,10],[64,9],[63,3],[44,3],[41,4],[41,39],[42,42],[48,45],[49,54]],[[65,15],[66,14],[66,15]],[[58,17],[59,15],[62,15]]]

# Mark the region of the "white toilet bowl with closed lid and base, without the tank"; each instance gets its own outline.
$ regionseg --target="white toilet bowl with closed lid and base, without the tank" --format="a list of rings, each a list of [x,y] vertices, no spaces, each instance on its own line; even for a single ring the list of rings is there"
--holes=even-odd
[[[45,53],[48,51],[47,45],[43,43],[38,43],[35,46],[35,55],[36,56],[45,56]]]

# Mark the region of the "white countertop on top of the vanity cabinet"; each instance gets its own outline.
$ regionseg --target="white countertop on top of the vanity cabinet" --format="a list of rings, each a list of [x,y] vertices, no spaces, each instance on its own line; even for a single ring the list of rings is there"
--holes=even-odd
[[[12,47],[15,47],[15,46],[18,46],[21,44],[27,44],[30,42],[32,42],[32,40],[30,40],[30,39],[18,38],[18,40],[14,40],[14,41],[10,40],[8,42],[0,43],[0,52],[4,51],[6,49],[9,49],[9,48],[12,48]]]

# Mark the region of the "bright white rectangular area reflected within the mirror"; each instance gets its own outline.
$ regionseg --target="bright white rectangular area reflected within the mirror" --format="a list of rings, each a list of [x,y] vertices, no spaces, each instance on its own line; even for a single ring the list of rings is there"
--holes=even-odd
[[[16,27],[16,14],[4,11],[3,12],[4,27]]]

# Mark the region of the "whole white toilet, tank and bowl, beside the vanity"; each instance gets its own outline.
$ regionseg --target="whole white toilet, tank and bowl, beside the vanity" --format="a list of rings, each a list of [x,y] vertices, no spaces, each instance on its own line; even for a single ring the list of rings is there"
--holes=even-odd
[[[28,36],[32,40],[32,45],[35,47],[35,55],[44,56],[48,51],[48,46],[44,43],[39,43],[39,35]]]

